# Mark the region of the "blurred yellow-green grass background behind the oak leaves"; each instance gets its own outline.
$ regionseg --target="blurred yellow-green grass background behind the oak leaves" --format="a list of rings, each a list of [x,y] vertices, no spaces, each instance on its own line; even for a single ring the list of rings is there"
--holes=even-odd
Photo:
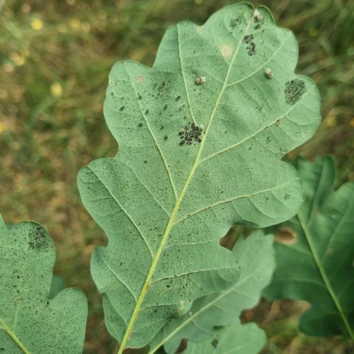
[[[108,72],[118,59],[154,62],[166,28],[203,23],[227,0],[0,0],[0,211],[7,222],[32,219],[57,245],[55,273],[89,297],[85,353],[112,353],[91,251],[105,243],[81,205],[76,173],[117,144],[103,120]],[[256,3],[255,3],[256,4]],[[354,180],[354,1],[264,0],[299,42],[297,72],[321,93],[323,122],[291,156],[333,154],[338,181]],[[350,353],[336,338],[297,330],[303,307],[263,304],[268,353]],[[353,352],[351,352],[353,353]]]

